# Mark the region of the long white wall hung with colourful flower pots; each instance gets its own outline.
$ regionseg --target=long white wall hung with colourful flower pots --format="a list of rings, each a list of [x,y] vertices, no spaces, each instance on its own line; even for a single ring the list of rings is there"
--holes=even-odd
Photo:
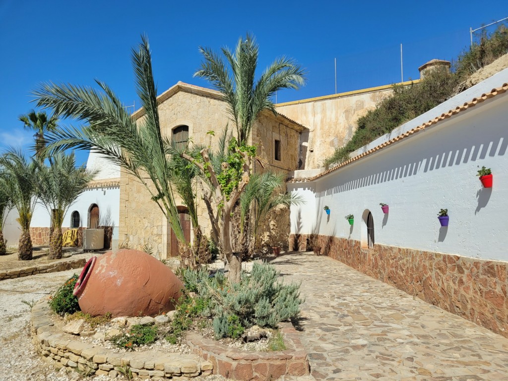
[[[288,184],[309,202],[292,207],[292,233],[366,241],[362,215],[368,209],[376,243],[508,261],[506,110],[508,93],[314,182]],[[482,166],[492,168],[490,189],[476,176]],[[382,202],[390,205],[388,215]],[[440,208],[448,209],[448,228],[439,225]],[[350,213],[355,215],[352,228],[344,218]]]

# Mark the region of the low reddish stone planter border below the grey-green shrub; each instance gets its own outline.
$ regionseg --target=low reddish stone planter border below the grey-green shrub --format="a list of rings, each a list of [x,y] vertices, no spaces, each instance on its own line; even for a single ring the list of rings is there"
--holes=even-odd
[[[280,323],[287,350],[280,352],[244,352],[205,339],[200,335],[188,335],[193,352],[210,361],[213,373],[238,380],[273,380],[282,375],[304,376],[309,374],[307,353],[299,334],[291,323]]]

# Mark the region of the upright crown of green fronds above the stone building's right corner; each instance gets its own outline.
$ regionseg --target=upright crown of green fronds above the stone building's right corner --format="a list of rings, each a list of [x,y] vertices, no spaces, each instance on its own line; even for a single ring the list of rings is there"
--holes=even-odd
[[[222,93],[240,145],[247,143],[252,125],[263,110],[277,113],[272,101],[275,92],[284,88],[298,89],[305,83],[305,73],[300,66],[284,56],[273,61],[256,80],[259,45],[250,34],[245,39],[240,37],[234,52],[222,48],[225,59],[209,48],[200,47],[199,51],[204,61],[194,76],[207,79]]]

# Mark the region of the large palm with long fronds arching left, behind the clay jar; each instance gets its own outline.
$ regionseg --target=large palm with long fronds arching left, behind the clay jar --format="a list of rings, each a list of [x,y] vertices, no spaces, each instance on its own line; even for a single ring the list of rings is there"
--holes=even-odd
[[[81,128],[57,127],[48,133],[48,151],[68,148],[89,149],[135,176],[162,210],[180,243],[188,250],[176,209],[171,171],[161,136],[157,109],[157,88],[153,81],[148,40],[142,36],[132,51],[136,87],[144,110],[142,121],[135,121],[111,88],[97,81],[101,90],[67,84],[43,84],[33,93],[40,107],[54,115],[86,122]],[[148,180],[147,180],[148,178]]]

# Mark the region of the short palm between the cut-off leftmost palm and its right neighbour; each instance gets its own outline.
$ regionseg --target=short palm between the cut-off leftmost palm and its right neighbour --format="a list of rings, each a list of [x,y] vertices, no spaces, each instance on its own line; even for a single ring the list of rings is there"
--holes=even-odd
[[[30,237],[30,223],[37,202],[38,170],[35,160],[27,160],[20,151],[9,150],[0,158],[2,166],[9,178],[10,196],[16,207],[21,226],[18,244],[18,259],[32,259],[33,247]]]

